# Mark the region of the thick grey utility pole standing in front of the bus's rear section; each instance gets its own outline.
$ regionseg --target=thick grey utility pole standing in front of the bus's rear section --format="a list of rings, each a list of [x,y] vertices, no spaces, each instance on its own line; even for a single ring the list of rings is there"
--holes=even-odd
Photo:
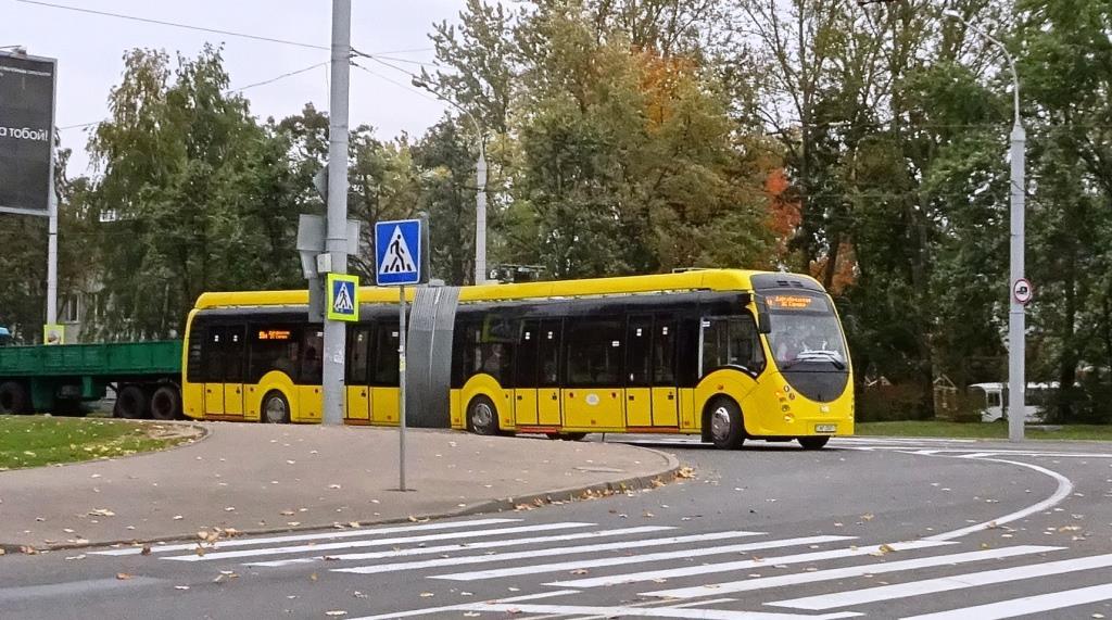
[[[331,97],[328,112],[328,230],[325,251],[331,270],[347,273],[348,84],[351,73],[351,0],[332,0]],[[358,300],[355,300],[358,303]],[[325,424],[344,423],[344,357],[347,323],[325,320]]]

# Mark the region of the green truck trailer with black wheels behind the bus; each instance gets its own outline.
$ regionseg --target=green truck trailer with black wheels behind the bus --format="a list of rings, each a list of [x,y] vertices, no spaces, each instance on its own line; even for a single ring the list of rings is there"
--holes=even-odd
[[[0,346],[0,414],[78,416],[109,390],[117,418],[180,418],[181,341]]]

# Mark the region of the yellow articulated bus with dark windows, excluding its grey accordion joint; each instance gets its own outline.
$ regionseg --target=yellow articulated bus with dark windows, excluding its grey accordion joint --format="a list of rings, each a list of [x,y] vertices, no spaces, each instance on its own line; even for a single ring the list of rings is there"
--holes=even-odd
[[[197,419],[319,422],[322,328],[306,291],[206,293],[190,313],[182,404]],[[398,423],[397,291],[359,290],[346,419]],[[459,291],[448,402],[480,434],[688,433],[818,449],[853,434],[834,304],[810,277],[702,270]]]

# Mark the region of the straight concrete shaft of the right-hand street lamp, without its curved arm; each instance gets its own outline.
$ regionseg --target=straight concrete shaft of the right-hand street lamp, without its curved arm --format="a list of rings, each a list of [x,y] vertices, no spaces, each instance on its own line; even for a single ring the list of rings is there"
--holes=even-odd
[[[1012,233],[1011,304],[1007,312],[1007,439],[1023,441],[1023,421],[1026,418],[1026,307],[1015,300],[1015,283],[1024,273],[1024,160],[1026,132],[1020,123],[1019,81],[1015,82],[1015,126],[1012,128]]]

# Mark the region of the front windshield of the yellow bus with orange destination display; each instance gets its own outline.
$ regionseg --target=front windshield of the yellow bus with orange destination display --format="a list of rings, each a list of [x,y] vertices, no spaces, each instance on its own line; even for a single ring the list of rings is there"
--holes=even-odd
[[[846,368],[850,358],[842,327],[824,297],[771,294],[766,301],[772,314],[768,346],[782,370],[808,361]]]

